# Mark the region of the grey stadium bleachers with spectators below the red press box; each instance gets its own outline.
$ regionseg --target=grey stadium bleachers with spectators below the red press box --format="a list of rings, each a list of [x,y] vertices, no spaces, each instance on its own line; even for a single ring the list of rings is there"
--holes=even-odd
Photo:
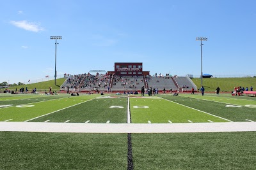
[[[166,92],[191,91],[196,85],[188,76],[116,76],[115,74],[77,74],[68,76],[67,80],[61,85],[61,91],[67,89],[76,92],[130,92],[139,91],[141,87],[145,89],[158,89]]]

